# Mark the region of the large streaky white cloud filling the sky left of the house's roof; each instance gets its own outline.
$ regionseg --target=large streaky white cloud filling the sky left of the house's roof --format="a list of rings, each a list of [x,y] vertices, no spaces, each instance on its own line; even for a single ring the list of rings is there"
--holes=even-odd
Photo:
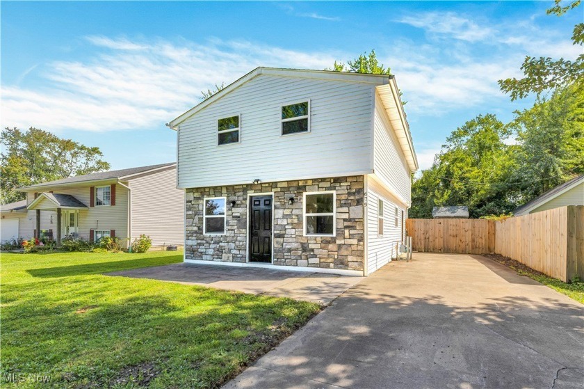
[[[2,126],[107,132],[161,127],[200,102],[201,90],[257,66],[323,69],[336,56],[248,41],[205,44],[87,38],[88,61],[49,64],[43,88],[2,86]]]

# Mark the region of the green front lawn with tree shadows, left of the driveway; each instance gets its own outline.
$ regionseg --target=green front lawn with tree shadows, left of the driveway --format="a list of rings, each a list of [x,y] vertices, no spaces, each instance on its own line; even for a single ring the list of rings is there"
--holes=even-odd
[[[182,253],[5,254],[0,386],[216,388],[320,309],[106,271],[181,262]]]

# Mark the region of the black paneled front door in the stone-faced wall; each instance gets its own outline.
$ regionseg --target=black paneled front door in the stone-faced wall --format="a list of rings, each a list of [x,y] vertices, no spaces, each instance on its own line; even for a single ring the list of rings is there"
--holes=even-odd
[[[272,262],[272,196],[250,197],[250,262]]]

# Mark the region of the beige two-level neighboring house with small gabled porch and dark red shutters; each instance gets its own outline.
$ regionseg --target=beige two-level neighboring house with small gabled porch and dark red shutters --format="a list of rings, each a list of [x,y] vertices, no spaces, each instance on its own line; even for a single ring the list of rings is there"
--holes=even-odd
[[[19,235],[49,235],[57,241],[115,236],[129,242],[145,234],[153,247],[181,245],[184,191],[177,189],[176,173],[177,164],[160,164],[20,188],[26,193],[28,214]]]

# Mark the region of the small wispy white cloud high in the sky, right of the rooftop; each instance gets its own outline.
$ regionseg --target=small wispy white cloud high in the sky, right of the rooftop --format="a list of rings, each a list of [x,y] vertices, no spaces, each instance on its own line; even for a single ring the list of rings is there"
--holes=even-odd
[[[398,22],[425,29],[428,33],[443,38],[452,37],[468,42],[485,40],[494,33],[491,28],[479,26],[471,19],[452,12],[428,12],[405,16]]]

